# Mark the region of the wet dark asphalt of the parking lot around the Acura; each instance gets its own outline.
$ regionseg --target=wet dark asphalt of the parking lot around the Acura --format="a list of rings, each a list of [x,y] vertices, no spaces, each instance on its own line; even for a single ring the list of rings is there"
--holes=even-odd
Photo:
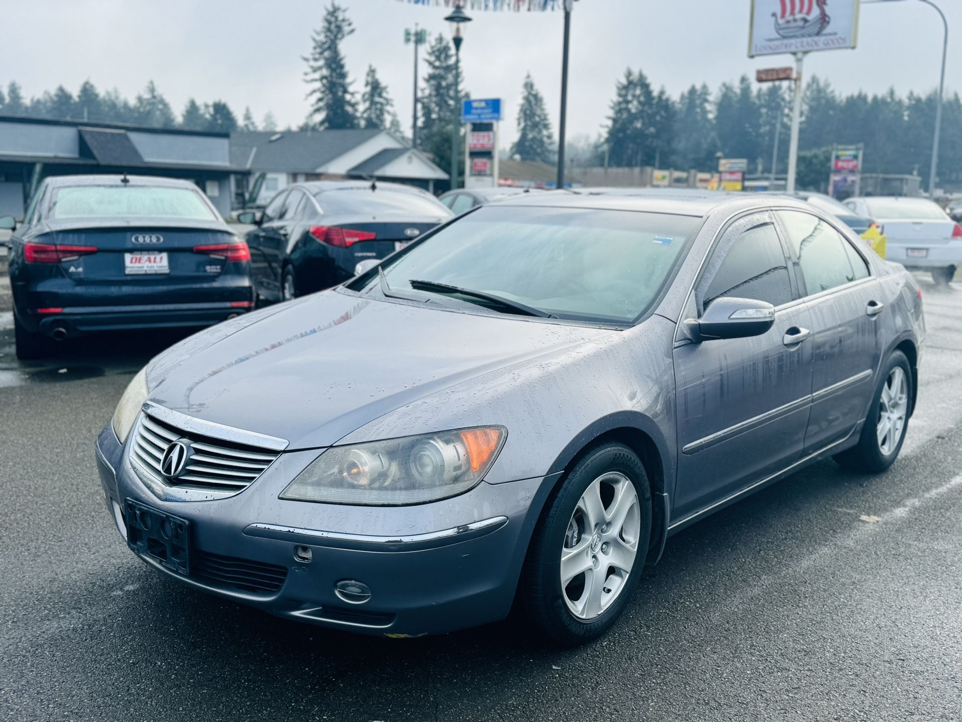
[[[329,632],[147,569],[104,508],[93,440],[172,339],[18,364],[2,313],[0,719],[962,719],[962,285],[923,283],[892,470],[824,461],[673,536],[612,632],[561,652],[511,621]]]

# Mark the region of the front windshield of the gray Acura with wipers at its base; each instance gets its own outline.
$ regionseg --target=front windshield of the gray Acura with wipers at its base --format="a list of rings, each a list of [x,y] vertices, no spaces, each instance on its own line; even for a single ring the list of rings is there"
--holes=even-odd
[[[633,322],[699,224],[660,213],[489,206],[398,258],[385,280],[392,291],[439,302],[468,297],[412,290],[411,281],[483,292],[559,318]],[[373,279],[368,288],[377,285]]]

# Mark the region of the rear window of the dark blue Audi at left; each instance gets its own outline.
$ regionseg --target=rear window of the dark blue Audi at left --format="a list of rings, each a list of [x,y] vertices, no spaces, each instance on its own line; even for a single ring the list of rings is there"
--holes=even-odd
[[[48,216],[52,219],[217,219],[198,191],[163,186],[55,188]]]

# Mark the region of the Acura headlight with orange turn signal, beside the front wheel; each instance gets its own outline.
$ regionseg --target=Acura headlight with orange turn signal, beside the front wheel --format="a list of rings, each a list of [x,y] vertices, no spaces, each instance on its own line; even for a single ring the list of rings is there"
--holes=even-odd
[[[484,478],[507,434],[503,426],[484,426],[333,447],[280,498],[390,506],[453,497]]]

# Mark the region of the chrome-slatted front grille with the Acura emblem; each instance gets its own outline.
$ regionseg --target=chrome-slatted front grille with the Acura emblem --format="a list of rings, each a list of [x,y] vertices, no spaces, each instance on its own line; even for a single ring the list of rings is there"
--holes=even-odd
[[[190,461],[179,477],[167,478],[161,473],[161,458],[167,446],[178,439],[190,446]],[[182,431],[143,414],[131,455],[145,471],[168,486],[237,493],[260,477],[279,454]]]

